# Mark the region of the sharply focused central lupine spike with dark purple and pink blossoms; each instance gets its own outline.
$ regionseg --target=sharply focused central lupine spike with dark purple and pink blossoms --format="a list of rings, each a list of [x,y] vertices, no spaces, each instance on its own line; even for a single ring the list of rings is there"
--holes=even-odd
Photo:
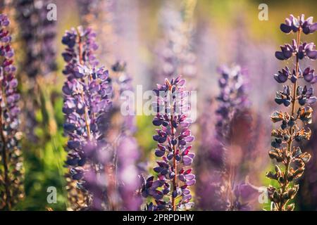
[[[185,79],[177,77],[166,79],[165,84],[158,84],[154,90],[157,99],[153,108],[157,114],[153,124],[160,129],[156,129],[153,139],[158,142],[155,155],[161,160],[154,167],[157,179],[154,176],[142,179],[142,196],[151,196],[156,203],[147,205],[147,210],[189,210],[193,206],[189,187],[196,180],[191,168],[194,153],[189,143],[194,136],[189,130],[189,104],[185,101],[189,93],[184,85]]]

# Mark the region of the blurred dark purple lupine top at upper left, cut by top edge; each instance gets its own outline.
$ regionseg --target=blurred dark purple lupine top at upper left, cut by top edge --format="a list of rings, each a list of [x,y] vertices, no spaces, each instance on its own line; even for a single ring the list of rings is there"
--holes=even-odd
[[[24,70],[28,77],[49,75],[56,70],[56,21],[47,20],[49,0],[16,1],[17,20],[25,46]]]

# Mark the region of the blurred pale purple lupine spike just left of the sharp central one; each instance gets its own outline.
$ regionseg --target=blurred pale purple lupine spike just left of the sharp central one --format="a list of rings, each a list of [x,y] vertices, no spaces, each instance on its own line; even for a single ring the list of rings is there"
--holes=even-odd
[[[133,134],[135,133],[135,116],[131,111],[131,99],[125,100],[125,113],[121,111],[123,104],[122,96],[125,91],[132,91],[132,78],[126,72],[126,63],[118,60],[111,66],[111,85],[113,87],[113,107],[108,118],[108,141],[112,143],[113,158],[117,162],[116,182],[118,183],[118,198],[113,198],[116,210],[139,210],[141,198],[136,195],[139,188],[139,148]]]

